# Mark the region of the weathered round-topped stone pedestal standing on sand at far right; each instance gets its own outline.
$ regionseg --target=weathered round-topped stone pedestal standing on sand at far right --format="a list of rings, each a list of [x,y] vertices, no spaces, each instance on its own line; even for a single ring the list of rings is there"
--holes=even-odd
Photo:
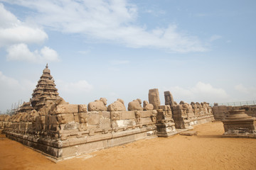
[[[225,120],[222,120],[225,130],[223,137],[256,138],[255,121],[245,114],[245,109],[230,110],[229,113]]]

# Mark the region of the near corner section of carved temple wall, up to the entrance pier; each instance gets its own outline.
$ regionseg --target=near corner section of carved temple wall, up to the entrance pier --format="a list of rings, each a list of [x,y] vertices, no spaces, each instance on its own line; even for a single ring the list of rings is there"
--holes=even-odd
[[[156,110],[87,111],[87,105],[60,100],[38,112],[1,115],[0,128],[10,139],[57,159],[156,137]]]

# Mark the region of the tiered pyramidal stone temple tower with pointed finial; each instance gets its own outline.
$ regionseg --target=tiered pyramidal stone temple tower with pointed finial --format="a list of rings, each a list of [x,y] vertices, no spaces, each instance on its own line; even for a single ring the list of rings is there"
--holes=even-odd
[[[58,89],[55,88],[53,77],[50,75],[48,64],[43,69],[43,74],[40,77],[36,89],[33,90],[31,105],[36,111],[39,111],[47,101],[55,101],[60,98],[58,96]]]

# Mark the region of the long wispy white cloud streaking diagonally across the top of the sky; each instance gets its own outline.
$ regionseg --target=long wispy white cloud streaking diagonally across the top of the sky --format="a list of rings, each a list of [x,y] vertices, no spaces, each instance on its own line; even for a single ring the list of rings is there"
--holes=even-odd
[[[38,11],[29,19],[64,33],[80,33],[128,47],[153,47],[169,52],[206,51],[201,40],[181,33],[175,24],[148,30],[137,23],[137,6],[127,1],[6,1]]]

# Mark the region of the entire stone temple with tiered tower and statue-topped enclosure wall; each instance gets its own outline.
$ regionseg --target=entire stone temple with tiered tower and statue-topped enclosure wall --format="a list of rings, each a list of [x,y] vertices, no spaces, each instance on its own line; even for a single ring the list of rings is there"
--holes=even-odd
[[[46,65],[31,101],[23,103],[15,115],[0,115],[0,131],[11,140],[63,159],[135,140],[169,137],[214,120],[208,103],[177,104],[170,92],[164,95],[166,104],[161,106],[158,89],[150,89],[149,102],[142,107],[137,98],[128,103],[128,111],[120,98],[109,106],[107,98],[88,105],[70,104],[58,96]]]

